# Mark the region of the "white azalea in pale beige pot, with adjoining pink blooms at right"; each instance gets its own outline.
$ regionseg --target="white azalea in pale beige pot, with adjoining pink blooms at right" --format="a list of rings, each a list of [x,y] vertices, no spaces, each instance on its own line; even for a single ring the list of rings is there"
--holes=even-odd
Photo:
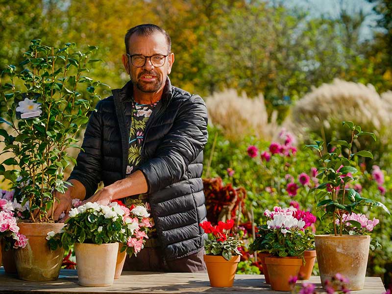
[[[129,211],[118,202],[99,205],[87,202],[73,208],[70,218],[59,233],[48,233],[52,250],[58,246],[69,250],[74,245],[79,284],[82,286],[110,286],[113,284],[119,243],[120,251],[137,254],[147,239],[149,223],[144,206]],[[97,269],[102,269],[97,271]]]

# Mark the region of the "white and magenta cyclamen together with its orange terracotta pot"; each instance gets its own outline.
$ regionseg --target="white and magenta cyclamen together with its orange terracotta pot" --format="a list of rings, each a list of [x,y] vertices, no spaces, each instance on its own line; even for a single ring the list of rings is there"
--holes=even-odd
[[[251,245],[253,251],[266,252],[265,276],[269,277],[272,290],[290,291],[287,282],[290,276],[297,276],[304,261],[304,252],[312,246],[312,238],[307,229],[315,217],[300,210],[266,210],[267,224],[258,227],[258,233]],[[307,229],[307,230],[305,230]],[[267,279],[266,279],[267,280]]]

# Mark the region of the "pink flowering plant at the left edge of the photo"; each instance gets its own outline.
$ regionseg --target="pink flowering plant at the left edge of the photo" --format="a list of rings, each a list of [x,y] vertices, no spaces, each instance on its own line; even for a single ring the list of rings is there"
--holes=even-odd
[[[24,248],[27,245],[25,235],[19,233],[13,203],[8,199],[11,194],[10,191],[0,192],[0,240],[2,239],[5,250],[11,247]]]

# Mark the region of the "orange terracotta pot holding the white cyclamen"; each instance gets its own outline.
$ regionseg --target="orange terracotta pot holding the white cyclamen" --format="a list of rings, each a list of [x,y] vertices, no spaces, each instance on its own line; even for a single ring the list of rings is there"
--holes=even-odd
[[[302,265],[298,257],[266,257],[272,290],[290,291],[289,279],[296,277]]]

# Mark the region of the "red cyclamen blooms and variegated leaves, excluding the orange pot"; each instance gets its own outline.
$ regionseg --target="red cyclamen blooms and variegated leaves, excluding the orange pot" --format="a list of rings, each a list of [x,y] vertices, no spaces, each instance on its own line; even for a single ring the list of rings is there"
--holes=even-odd
[[[199,225],[208,234],[208,239],[204,240],[207,255],[221,255],[226,260],[230,260],[233,255],[242,255],[238,248],[243,242],[230,236],[234,220],[219,221],[215,226],[209,221],[203,221]]]

